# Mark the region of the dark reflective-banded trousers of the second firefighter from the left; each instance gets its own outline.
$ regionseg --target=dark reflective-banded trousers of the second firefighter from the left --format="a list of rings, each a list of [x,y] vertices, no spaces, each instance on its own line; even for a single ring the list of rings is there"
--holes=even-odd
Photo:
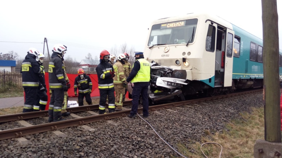
[[[46,104],[48,101],[48,96],[45,91],[41,91],[39,88],[37,89],[36,102],[33,106],[33,111],[43,111],[45,110]]]

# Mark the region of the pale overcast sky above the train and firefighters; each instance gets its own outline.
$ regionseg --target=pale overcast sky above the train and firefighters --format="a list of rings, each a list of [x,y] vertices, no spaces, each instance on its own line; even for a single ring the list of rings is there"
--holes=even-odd
[[[280,20],[279,0],[277,10]],[[54,44],[62,43],[68,47],[66,57],[78,62],[88,53],[99,56],[103,49],[123,43],[135,51],[144,51],[152,21],[198,12],[213,13],[262,39],[261,0],[5,0],[0,4],[0,41],[34,43],[0,42],[0,52],[14,51],[20,57],[29,47],[43,52],[45,37],[50,53]],[[278,27],[281,49],[281,20]]]

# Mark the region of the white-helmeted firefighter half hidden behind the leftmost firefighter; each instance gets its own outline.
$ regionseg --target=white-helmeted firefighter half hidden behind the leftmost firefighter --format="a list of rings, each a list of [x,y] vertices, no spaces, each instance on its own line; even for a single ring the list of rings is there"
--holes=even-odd
[[[39,66],[43,69],[43,71],[39,74],[39,81],[42,84],[42,86],[45,88],[45,91],[41,91],[38,88],[36,102],[33,106],[33,111],[45,110],[45,107],[48,101],[48,96],[46,94],[47,88],[46,88],[46,83],[45,83],[45,71],[44,71],[44,66],[43,66],[44,58],[45,56],[42,53],[39,53],[39,55],[36,57],[36,61],[38,62]]]

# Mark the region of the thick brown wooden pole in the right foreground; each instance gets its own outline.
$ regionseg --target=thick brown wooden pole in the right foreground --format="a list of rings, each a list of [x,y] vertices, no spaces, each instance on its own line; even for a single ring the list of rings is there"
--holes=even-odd
[[[261,0],[263,28],[264,140],[281,143],[278,13],[276,0]]]

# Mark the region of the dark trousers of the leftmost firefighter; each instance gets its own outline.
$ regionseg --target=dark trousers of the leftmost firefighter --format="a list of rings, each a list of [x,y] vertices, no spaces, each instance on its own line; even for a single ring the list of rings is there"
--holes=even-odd
[[[36,101],[37,89],[38,89],[38,87],[24,88],[25,101],[24,101],[23,113],[33,111],[33,105]]]

